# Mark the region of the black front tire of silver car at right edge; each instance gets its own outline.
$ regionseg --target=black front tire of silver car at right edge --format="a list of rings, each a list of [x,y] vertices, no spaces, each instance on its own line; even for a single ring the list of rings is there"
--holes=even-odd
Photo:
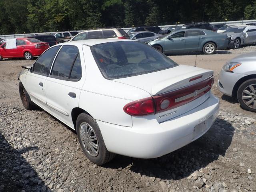
[[[254,106],[256,106],[256,92],[254,91],[255,92],[255,94],[254,94],[248,86],[253,86],[254,89],[256,90],[256,78],[249,79],[249,80],[243,82],[239,86],[238,91],[237,91],[237,99],[238,99],[238,102],[240,103],[241,108],[248,110],[248,111],[256,112],[256,108],[254,108]],[[248,92],[250,92],[250,93],[246,94],[244,92],[244,90],[245,91],[248,90]],[[243,96],[244,96],[244,98],[243,98]],[[245,99],[246,96],[249,96],[249,97],[247,99]],[[254,102],[255,102],[255,105],[254,105]]]

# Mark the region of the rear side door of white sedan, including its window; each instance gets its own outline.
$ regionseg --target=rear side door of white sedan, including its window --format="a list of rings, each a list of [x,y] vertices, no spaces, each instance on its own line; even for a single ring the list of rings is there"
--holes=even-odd
[[[44,87],[52,115],[72,128],[71,112],[78,107],[85,78],[84,76],[82,79],[82,57],[76,46],[63,45],[52,64]]]

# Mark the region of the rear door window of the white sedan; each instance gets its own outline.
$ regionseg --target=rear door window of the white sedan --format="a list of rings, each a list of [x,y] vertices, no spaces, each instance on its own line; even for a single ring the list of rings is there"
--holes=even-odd
[[[76,46],[62,46],[54,61],[51,76],[68,79],[70,77],[70,70],[78,54],[79,50]]]

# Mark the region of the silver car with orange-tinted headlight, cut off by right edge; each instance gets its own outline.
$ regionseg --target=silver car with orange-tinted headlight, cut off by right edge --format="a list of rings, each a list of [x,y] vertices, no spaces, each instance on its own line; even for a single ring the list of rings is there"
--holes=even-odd
[[[256,52],[242,54],[227,62],[218,79],[225,95],[236,97],[245,110],[256,112]]]

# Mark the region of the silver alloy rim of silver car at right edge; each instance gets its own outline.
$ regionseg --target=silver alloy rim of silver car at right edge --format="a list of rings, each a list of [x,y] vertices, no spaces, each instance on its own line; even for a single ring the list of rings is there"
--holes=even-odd
[[[243,90],[242,100],[248,107],[256,109],[256,84],[251,84]]]

